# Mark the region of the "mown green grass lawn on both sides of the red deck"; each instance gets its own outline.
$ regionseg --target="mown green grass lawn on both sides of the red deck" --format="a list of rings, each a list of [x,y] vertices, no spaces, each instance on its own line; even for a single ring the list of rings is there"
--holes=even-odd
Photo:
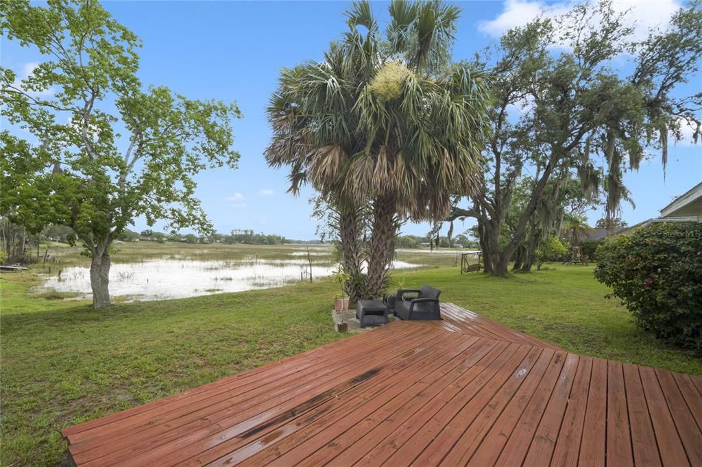
[[[702,374],[702,361],[638,331],[584,266],[510,279],[458,268],[402,272],[454,302],[585,355]],[[118,304],[29,295],[32,273],[1,285],[3,465],[65,460],[60,429],[264,365],[343,336],[331,280],[191,299]]]

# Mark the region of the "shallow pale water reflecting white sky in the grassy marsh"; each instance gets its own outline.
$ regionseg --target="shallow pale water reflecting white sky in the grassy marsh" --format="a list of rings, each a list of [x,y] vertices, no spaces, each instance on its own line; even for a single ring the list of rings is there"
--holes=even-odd
[[[336,269],[335,264],[324,264],[326,265],[314,265],[312,258],[312,278],[330,276]],[[418,266],[420,265],[400,261],[393,264],[395,269]],[[138,263],[114,263],[110,268],[110,295],[135,300],[160,300],[242,292],[300,282],[300,277],[307,280],[308,270],[306,257],[227,261],[154,259]],[[68,267],[61,271],[60,276],[52,274],[43,277],[46,288],[77,293],[78,299],[92,296],[90,273],[86,267]]]

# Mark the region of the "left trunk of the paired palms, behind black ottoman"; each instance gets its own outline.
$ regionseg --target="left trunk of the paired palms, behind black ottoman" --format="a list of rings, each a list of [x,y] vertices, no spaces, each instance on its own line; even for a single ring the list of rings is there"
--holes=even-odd
[[[345,285],[351,302],[364,298],[363,274],[361,265],[361,214],[356,208],[339,208],[339,237],[341,240],[342,264],[344,272],[351,276]]]

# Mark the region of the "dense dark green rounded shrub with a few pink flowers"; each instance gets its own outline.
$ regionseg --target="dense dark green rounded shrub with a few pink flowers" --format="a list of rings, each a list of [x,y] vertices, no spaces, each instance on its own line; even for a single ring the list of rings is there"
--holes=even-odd
[[[653,224],[597,249],[595,278],[639,327],[702,351],[702,224]]]

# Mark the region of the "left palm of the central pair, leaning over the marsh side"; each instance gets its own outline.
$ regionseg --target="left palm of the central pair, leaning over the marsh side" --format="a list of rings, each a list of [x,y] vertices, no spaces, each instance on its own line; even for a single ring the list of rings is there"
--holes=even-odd
[[[363,205],[343,194],[343,174],[349,154],[362,150],[353,112],[359,89],[353,83],[362,81],[364,68],[371,67],[368,57],[375,55],[367,48],[350,53],[343,47],[343,43],[357,43],[358,35],[354,29],[343,42],[332,43],[324,62],[282,70],[267,109],[273,137],[265,151],[269,165],[289,167],[291,193],[312,184],[333,209],[352,301],[366,297],[360,241]]]

